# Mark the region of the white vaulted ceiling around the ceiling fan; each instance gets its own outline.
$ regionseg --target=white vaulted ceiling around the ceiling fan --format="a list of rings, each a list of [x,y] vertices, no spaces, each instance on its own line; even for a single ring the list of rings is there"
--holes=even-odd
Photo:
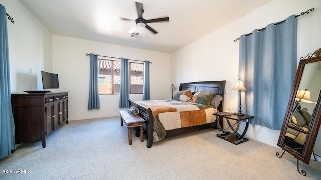
[[[213,32],[272,0],[136,0],[143,3],[145,19],[170,18],[149,23],[153,34],[136,26],[133,0],[20,0],[54,35],[171,53]],[[233,37],[232,37],[233,38]]]

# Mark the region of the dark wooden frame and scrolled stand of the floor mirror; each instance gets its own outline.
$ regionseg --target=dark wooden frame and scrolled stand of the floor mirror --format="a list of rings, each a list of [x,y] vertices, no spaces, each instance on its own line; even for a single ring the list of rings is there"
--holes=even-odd
[[[321,63],[321,56],[320,55],[321,55],[321,48],[316,50],[313,54],[309,54],[305,58],[301,58],[301,60],[300,60],[300,63],[299,63],[299,66],[298,66],[298,69],[296,72],[296,76],[294,79],[294,84],[292,87],[290,100],[289,100],[289,103],[287,106],[283,125],[281,128],[279,140],[277,143],[277,145],[279,147],[281,147],[282,150],[284,150],[284,152],[286,151],[286,152],[292,154],[295,158],[297,158],[297,170],[298,171],[299,171],[299,168],[298,168],[299,161],[298,160],[301,160],[302,162],[309,164],[310,159],[311,159],[311,155],[312,155],[313,148],[314,148],[314,143],[315,143],[315,140],[316,140],[319,128],[320,128],[320,124],[321,124],[321,109],[320,109],[321,95],[319,95],[317,98],[317,103],[316,103],[315,109],[312,113],[312,119],[310,121],[310,125],[309,125],[308,131],[307,131],[306,141],[303,144],[302,149],[300,149],[298,151],[295,148],[284,143],[285,134],[287,132],[287,129],[290,126],[289,123],[290,123],[290,120],[291,120],[291,117],[293,114],[294,104],[297,104],[295,98],[296,98],[298,88],[299,88],[299,85],[301,82],[304,67],[306,66],[306,64],[311,64],[311,63],[315,63],[315,62]],[[315,103],[315,100],[314,100],[314,103]],[[294,109],[294,111],[295,111],[295,109]],[[284,152],[283,152],[283,154],[284,154]],[[281,158],[283,156],[283,154],[280,156],[280,154],[277,152],[276,156]],[[302,175],[306,175],[306,172],[304,170],[302,170],[301,172],[300,173]]]

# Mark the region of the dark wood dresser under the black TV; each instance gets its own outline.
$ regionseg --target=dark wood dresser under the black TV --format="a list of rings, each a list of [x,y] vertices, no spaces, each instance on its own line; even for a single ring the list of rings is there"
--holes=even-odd
[[[13,93],[12,112],[16,144],[46,138],[66,122],[68,124],[68,92]]]

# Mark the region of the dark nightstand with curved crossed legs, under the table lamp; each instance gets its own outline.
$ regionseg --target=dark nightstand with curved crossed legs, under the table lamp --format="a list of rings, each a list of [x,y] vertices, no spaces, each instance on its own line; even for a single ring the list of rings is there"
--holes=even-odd
[[[220,130],[223,132],[222,134],[217,134],[216,136],[217,137],[220,137],[221,139],[224,139],[226,141],[229,141],[235,145],[238,145],[240,143],[243,143],[243,142],[246,142],[248,141],[249,139],[244,137],[245,134],[246,134],[246,131],[247,131],[247,128],[249,126],[249,123],[250,123],[250,120],[252,118],[254,118],[254,116],[251,116],[251,115],[243,115],[243,116],[238,116],[238,115],[221,115],[221,114],[218,114],[218,113],[214,113],[213,115],[216,116],[216,119],[218,118],[225,118],[228,125],[229,125],[229,128],[232,130],[232,132],[228,132],[228,131],[225,131],[222,127],[223,127],[223,124],[220,124],[219,120],[217,120],[217,125],[218,127],[220,128]],[[236,128],[234,128],[234,125],[232,125],[230,123],[230,120],[234,120],[236,121]],[[240,122],[245,122],[246,125],[245,125],[245,129],[243,131],[242,134],[239,134],[237,131],[239,130],[239,127],[240,127]],[[223,121],[222,121],[223,123]]]

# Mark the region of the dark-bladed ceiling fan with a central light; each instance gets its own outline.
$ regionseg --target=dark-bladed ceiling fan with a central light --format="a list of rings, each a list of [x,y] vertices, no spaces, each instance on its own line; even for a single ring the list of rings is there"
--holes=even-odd
[[[135,22],[138,27],[142,27],[142,28],[146,27],[152,33],[157,34],[158,32],[155,29],[151,28],[149,25],[147,25],[147,23],[170,21],[169,17],[156,18],[156,19],[150,19],[150,20],[144,19],[142,17],[142,14],[144,13],[144,4],[139,3],[139,2],[135,2],[135,3],[136,3],[137,14],[138,14],[138,18],[135,20]],[[127,18],[122,18],[122,17],[120,17],[120,19],[127,20],[127,21],[134,21],[132,19],[127,19]]]

